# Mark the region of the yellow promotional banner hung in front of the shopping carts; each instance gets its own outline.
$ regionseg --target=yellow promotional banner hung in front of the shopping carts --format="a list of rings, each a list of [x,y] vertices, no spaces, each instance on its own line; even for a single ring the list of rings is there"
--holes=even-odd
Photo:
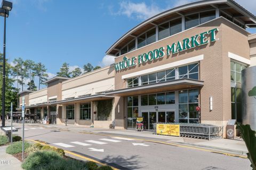
[[[179,124],[157,124],[156,134],[180,136],[180,125]]]

